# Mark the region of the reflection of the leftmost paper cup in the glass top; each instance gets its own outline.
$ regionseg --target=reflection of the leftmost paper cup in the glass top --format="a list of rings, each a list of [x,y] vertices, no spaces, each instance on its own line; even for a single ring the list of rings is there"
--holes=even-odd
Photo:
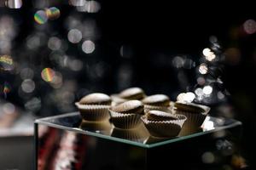
[[[90,122],[82,121],[79,128],[86,131],[100,131],[100,133],[111,133],[112,125],[108,121],[104,122]]]

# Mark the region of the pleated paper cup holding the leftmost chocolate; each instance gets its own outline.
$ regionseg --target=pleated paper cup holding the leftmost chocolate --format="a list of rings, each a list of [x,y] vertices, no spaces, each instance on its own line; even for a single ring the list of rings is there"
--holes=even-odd
[[[76,105],[85,121],[102,122],[109,119],[110,105],[80,105],[79,103]]]

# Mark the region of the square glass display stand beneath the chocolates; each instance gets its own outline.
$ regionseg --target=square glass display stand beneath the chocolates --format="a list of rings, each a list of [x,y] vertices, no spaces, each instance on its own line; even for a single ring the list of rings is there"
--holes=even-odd
[[[207,116],[200,129],[176,138],[149,135],[143,123],[131,130],[111,122],[84,122],[79,112],[35,122],[38,170],[221,169],[237,152],[241,122]]]

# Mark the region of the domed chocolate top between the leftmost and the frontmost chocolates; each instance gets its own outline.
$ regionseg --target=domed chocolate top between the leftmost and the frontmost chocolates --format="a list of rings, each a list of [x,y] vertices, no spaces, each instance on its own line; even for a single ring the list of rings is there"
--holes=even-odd
[[[113,106],[112,111],[116,111],[123,114],[134,113],[134,114],[143,115],[144,106],[141,101],[134,99],[134,100],[125,101],[120,105]]]

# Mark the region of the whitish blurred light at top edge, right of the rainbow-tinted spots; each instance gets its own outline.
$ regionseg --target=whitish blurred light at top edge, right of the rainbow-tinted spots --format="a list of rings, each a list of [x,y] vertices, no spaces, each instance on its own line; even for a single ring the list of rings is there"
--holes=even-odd
[[[96,1],[85,1],[83,6],[77,7],[79,12],[97,13],[101,9],[101,4]]]

